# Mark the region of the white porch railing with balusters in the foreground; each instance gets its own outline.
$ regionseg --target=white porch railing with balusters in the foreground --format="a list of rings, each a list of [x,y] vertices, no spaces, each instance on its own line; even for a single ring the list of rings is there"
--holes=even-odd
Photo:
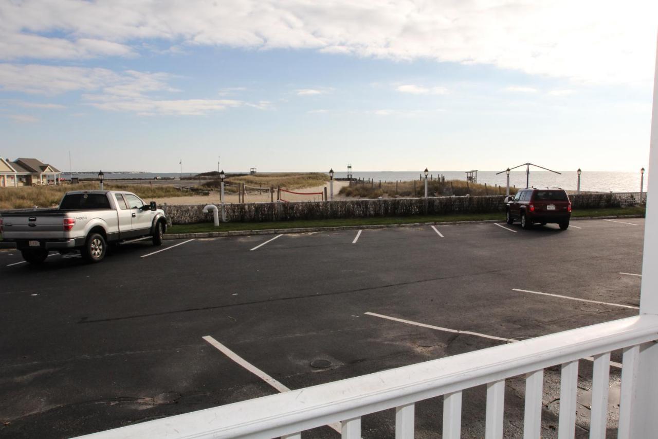
[[[658,348],[658,316],[578,328],[321,384],[249,401],[134,424],[86,438],[301,438],[340,422],[342,437],[361,438],[361,417],[395,408],[395,437],[414,437],[414,403],[443,395],[443,438],[458,439],[462,391],[487,385],[486,438],[503,437],[505,379],[526,374],[524,438],[540,438],[544,368],[562,366],[559,437],[573,438],[578,360],[594,357],[590,438],[604,438],[610,353],[623,349],[618,438],[632,435],[640,351]],[[647,409],[648,407],[641,407]],[[653,409],[653,408],[652,408]]]

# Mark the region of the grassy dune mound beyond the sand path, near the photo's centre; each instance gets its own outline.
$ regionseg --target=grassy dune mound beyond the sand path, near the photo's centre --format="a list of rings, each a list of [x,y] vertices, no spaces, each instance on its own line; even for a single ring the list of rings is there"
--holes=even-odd
[[[243,175],[241,177],[230,177],[224,183],[236,185],[244,183],[252,187],[281,187],[282,189],[303,189],[324,185],[329,181],[329,175],[321,172],[276,172],[276,173],[255,173],[253,175]],[[209,188],[218,188],[219,180],[211,180],[203,183],[203,186]],[[224,187],[226,192],[236,191],[234,187]]]

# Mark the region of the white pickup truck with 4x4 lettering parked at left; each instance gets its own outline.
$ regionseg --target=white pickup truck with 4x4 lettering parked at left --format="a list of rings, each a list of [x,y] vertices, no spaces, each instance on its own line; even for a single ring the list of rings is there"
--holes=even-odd
[[[153,239],[161,245],[166,218],[155,202],[122,190],[66,192],[59,208],[0,214],[0,248],[16,248],[31,264],[41,264],[49,250],[80,251],[89,262],[105,258],[110,243]]]

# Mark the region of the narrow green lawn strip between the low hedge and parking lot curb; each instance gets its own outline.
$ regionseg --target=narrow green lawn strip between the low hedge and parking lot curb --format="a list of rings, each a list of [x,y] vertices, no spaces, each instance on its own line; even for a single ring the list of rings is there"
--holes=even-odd
[[[610,209],[584,209],[574,210],[572,218],[587,218],[597,216],[623,216],[644,215],[644,207],[610,208]],[[408,223],[442,223],[449,221],[505,221],[505,213],[492,214],[456,214],[456,215],[419,215],[387,218],[353,218],[338,220],[297,220],[272,221],[263,223],[220,223],[215,227],[213,223],[180,224],[167,228],[167,233],[202,233],[213,231],[243,231],[266,229],[297,229],[302,227],[347,227],[359,225],[388,225]]]

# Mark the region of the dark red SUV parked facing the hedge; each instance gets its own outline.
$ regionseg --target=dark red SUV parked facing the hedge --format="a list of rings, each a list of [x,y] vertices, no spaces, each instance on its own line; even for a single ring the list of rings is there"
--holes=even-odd
[[[530,229],[533,223],[557,223],[565,230],[571,218],[571,202],[563,189],[521,189],[507,201],[507,223],[521,221]]]

